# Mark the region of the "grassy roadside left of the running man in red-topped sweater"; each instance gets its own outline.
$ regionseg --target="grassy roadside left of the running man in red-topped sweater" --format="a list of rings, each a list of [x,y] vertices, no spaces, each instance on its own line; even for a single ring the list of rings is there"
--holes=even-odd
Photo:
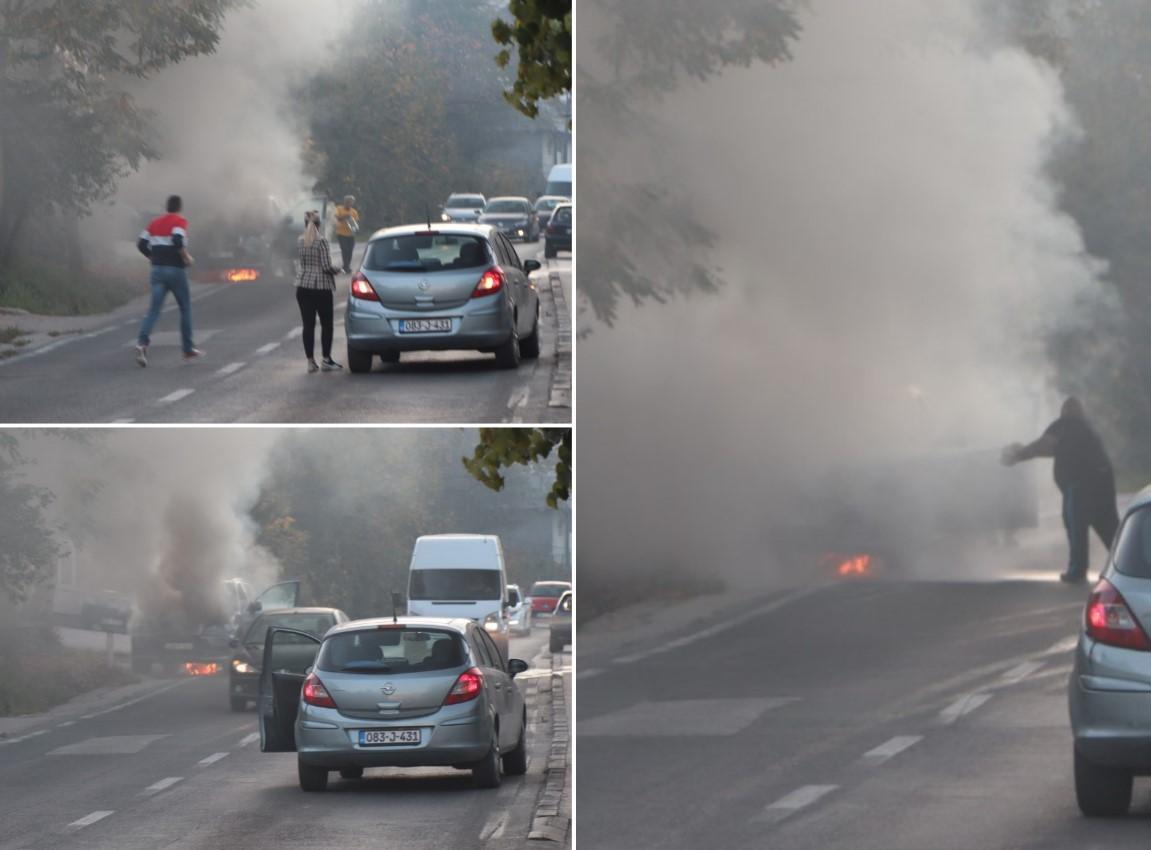
[[[39,316],[91,316],[145,291],[142,280],[93,272],[76,279],[52,266],[15,266],[0,278],[0,306]]]

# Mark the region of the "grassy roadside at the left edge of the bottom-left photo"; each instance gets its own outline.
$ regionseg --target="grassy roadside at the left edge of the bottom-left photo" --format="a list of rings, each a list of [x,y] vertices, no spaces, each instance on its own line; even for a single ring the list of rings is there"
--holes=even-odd
[[[0,644],[0,718],[36,714],[97,688],[137,681],[123,668],[105,667],[99,652],[62,646],[49,628],[6,630]]]

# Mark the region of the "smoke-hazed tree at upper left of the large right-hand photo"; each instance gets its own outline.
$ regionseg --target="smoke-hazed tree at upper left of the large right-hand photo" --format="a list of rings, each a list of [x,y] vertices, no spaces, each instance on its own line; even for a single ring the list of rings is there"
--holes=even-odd
[[[611,324],[620,299],[663,302],[714,291],[714,234],[661,161],[661,126],[650,107],[685,79],[791,59],[800,36],[795,0],[590,0],[581,7],[577,99],[580,115],[580,294]],[[585,40],[586,38],[586,40]],[[585,46],[586,45],[586,46]],[[649,151],[666,180],[622,173],[611,144]]]

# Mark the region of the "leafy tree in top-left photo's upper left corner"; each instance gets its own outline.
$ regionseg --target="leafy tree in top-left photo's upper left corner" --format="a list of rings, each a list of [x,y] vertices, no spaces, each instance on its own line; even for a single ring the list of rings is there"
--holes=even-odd
[[[0,0],[0,287],[32,211],[83,214],[157,155],[128,82],[212,53],[245,1]]]

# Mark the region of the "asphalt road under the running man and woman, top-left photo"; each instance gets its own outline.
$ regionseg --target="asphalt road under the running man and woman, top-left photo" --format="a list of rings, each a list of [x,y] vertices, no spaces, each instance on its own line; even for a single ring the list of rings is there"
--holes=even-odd
[[[307,374],[299,312],[285,282],[192,286],[197,346],[207,356],[183,363],[178,312],[171,299],[153,334],[147,369],[134,361],[146,305],[83,334],[64,335],[0,361],[2,423],[569,423],[571,408],[549,404],[557,372],[559,316],[549,272],[571,272],[567,256],[544,260],[543,242],[517,245],[544,268],[542,351],[516,371],[478,351],[412,352],[401,363],[379,361],[371,374]],[[348,276],[336,293],[335,359],[344,361],[343,311]],[[143,284],[142,284],[143,286]],[[567,337],[570,339],[570,336]],[[319,332],[317,332],[319,346]],[[346,365],[346,364],[345,364]]]

